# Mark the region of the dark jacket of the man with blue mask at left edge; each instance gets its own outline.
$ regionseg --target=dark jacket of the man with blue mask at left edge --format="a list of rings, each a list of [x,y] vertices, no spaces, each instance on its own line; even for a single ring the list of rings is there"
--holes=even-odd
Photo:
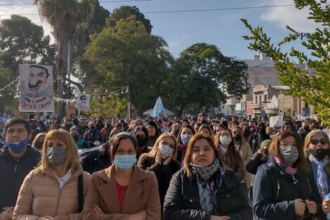
[[[40,151],[31,145],[20,158],[9,155],[6,145],[0,150],[0,212],[3,207],[15,206],[25,176],[37,167],[40,158]]]

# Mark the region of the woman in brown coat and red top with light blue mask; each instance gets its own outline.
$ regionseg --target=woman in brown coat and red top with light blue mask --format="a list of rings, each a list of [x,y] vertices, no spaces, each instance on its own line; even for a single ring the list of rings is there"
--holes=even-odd
[[[121,132],[111,145],[113,164],[93,173],[84,219],[160,219],[157,179],[136,166],[136,138]]]

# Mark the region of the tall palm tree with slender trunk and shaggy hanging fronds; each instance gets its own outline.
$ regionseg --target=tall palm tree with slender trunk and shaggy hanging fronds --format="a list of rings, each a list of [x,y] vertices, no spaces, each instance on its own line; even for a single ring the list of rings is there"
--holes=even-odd
[[[67,75],[68,45],[77,27],[87,20],[93,8],[94,0],[34,0],[39,9],[42,20],[53,27],[56,39],[58,58],[56,73],[58,75],[58,98],[65,98],[63,94],[65,77]],[[58,116],[65,116],[65,103],[58,103]]]

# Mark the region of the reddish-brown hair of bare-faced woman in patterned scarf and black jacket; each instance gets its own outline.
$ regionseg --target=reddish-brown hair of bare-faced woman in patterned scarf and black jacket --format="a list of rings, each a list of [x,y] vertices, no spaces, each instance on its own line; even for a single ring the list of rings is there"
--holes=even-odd
[[[192,158],[191,158],[192,157],[192,148],[194,147],[194,143],[200,139],[205,139],[207,142],[209,142],[209,144],[213,148],[214,155],[216,156],[216,158],[218,158],[218,160],[220,161],[220,164],[223,166],[225,164],[223,162],[223,160],[220,158],[218,148],[214,144],[213,138],[211,138],[211,136],[205,136],[202,133],[194,134],[188,143],[187,153],[185,154],[185,159],[183,160],[183,169],[185,169],[185,171],[187,172],[188,179],[192,179],[192,169],[190,167],[190,162],[192,162]]]

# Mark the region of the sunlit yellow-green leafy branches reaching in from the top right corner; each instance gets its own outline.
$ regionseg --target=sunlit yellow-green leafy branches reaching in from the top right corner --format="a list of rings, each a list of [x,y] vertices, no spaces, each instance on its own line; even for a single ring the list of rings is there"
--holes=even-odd
[[[315,105],[318,112],[317,117],[330,122],[330,6],[325,0],[295,0],[296,8],[309,8],[310,16],[315,22],[322,25],[316,28],[315,32],[297,32],[291,27],[291,32],[278,44],[271,42],[271,38],[263,31],[262,27],[253,28],[246,19],[242,22],[251,32],[251,36],[244,36],[244,39],[252,41],[249,45],[251,50],[263,51],[276,61],[275,69],[279,72],[279,80],[282,84],[290,87],[288,93],[292,96],[302,97],[304,101]],[[285,53],[282,50],[284,44],[300,42],[303,47],[310,51],[298,51],[291,47]],[[293,61],[298,60],[298,64]],[[305,68],[307,65],[308,68]]]

